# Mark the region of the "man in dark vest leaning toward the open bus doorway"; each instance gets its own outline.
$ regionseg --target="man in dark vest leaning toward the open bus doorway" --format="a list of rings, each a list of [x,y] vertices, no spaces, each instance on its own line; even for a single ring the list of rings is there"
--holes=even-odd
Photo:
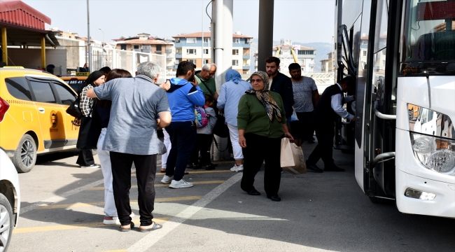
[[[316,109],[313,111],[313,123],[314,129],[316,129],[316,137],[318,138],[318,146],[314,148],[307,160],[307,168],[313,172],[322,172],[316,166],[316,162],[320,158],[324,162],[325,172],[344,172],[344,169],[337,167],[333,163],[333,137],[335,137],[335,122],[339,117],[351,121],[356,119],[342,107],[342,104],[356,99],[354,95],[349,97],[343,97],[342,95],[354,84],[353,78],[346,77],[339,80],[337,84],[327,87],[321,95]]]

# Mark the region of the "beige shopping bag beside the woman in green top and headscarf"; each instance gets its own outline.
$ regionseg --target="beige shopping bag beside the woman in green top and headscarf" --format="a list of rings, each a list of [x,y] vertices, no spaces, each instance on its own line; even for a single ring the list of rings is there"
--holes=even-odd
[[[307,173],[302,147],[291,143],[287,137],[281,139],[280,165],[291,174]]]

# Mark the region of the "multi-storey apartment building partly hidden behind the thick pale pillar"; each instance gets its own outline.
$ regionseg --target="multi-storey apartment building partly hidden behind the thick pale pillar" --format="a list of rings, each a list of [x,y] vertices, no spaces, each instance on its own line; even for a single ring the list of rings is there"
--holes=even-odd
[[[197,69],[202,69],[204,64],[211,63],[213,50],[210,32],[179,34],[172,38],[175,40],[176,64],[186,60],[196,64]],[[239,71],[240,74],[250,74],[252,39],[253,37],[240,32],[232,34],[232,69]]]

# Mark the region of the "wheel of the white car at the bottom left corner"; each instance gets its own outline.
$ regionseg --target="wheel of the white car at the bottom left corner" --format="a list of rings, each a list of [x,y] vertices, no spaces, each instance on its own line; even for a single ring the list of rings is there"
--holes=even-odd
[[[5,195],[0,193],[0,251],[7,251],[13,233],[13,211]]]

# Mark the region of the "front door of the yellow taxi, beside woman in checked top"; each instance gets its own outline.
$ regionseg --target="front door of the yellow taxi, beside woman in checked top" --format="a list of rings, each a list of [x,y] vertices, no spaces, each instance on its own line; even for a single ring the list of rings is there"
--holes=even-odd
[[[66,109],[73,104],[78,97],[76,92],[73,92],[71,87],[61,83],[57,80],[53,80],[53,87],[55,92],[58,94],[57,102],[62,106],[62,120],[64,123],[64,133],[66,138],[65,146],[76,146],[78,141],[79,127],[73,125],[74,117],[66,113]]]

